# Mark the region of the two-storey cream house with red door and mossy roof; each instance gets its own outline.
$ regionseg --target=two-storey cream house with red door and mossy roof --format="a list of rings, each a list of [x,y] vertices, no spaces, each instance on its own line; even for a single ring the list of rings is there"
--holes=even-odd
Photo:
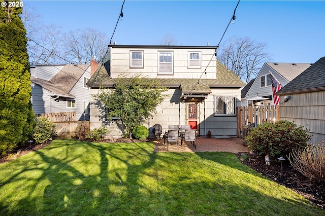
[[[88,81],[90,95],[101,87],[114,88],[120,74],[142,74],[167,86],[167,97],[144,126],[158,123],[191,125],[198,135],[237,135],[236,103],[243,82],[215,58],[217,47],[110,45],[109,60]],[[97,101],[90,105],[90,128],[108,126],[108,136],[121,135],[115,120],[100,114]]]

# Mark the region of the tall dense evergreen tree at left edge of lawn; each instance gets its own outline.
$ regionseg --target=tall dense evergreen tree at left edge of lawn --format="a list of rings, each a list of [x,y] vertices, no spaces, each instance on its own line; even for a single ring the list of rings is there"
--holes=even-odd
[[[6,3],[6,4],[5,4]],[[19,1],[15,1],[15,6]],[[5,6],[6,5],[6,6]],[[0,155],[25,143],[32,133],[30,72],[22,7],[0,7]]]

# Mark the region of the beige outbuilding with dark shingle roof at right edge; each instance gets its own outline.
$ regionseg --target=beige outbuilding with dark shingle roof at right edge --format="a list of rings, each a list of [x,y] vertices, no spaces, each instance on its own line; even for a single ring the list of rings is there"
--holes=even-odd
[[[310,143],[325,140],[325,57],[277,92],[280,119],[310,129]]]

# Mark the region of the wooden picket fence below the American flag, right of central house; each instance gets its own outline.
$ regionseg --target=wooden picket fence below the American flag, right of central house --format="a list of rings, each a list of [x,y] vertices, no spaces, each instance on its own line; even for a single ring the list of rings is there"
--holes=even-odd
[[[276,122],[280,119],[280,106],[238,106],[237,107],[237,136],[241,136],[243,127],[250,123]]]

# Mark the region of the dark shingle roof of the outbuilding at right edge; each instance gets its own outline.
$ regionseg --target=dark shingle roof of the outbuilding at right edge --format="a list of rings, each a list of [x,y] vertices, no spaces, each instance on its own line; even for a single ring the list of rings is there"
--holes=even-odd
[[[277,94],[297,94],[311,91],[325,91],[325,57],[321,57],[313,63]]]

